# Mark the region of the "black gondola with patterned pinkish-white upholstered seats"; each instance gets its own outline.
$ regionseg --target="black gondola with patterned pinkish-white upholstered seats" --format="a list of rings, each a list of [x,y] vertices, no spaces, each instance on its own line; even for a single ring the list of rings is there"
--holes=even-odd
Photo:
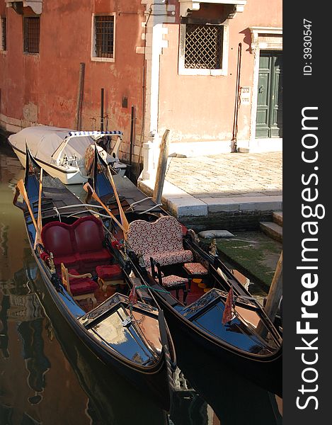
[[[125,253],[127,267],[154,293],[172,334],[190,339],[214,361],[281,396],[282,336],[219,259],[215,246],[203,246],[192,229],[168,215],[128,179],[111,176],[96,152],[93,192],[109,208],[116,205],[114,185],[129,222],[125,234],[113,225],[119,240],[115,256],[118,251],[123,259]]]

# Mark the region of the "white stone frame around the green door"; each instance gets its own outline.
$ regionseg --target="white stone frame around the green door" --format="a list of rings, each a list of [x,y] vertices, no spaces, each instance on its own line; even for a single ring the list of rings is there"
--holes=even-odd
[[[256,117],[257,117],[257,96],[258,96],[258,76],[259,76],[259,57],[261,50],[282,50],[282,28],[276,27],[250,27],[251,31],[251,53],[253,54],[253,95],[251,97],[251,120],[249,149],[256,149],[258,141],[256,139]],[[272,143],[269,145],[280,145],[282,138],[268,137]],[[280,149],[277,149],[280,150]]]

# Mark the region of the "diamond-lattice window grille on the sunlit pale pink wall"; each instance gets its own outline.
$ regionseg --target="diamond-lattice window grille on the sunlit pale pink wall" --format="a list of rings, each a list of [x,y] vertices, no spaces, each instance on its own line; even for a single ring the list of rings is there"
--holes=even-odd
[[[185,68],[222,69],[224,27],[217,25],[185,26]]]

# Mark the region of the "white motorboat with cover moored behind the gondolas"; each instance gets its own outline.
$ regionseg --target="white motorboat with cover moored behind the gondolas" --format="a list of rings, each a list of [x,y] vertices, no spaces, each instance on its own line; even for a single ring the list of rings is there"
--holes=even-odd
[[[88,181],[95,142],[103,159],[124,176],[126,164],[118,159],[122,132],[75,131],[69,128],[37,125],[8,137],[9,144],[25,167],[25,144],[36,161],[52,177],[58,177],[64,184],[79,184]],[[106,147],[106,150],[103,147]],[[113,145],[113,147],[111,147]]]

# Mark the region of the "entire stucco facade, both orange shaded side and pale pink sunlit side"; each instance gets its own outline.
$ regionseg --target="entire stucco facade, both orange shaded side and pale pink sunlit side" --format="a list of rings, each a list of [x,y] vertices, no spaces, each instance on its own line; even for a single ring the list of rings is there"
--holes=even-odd
[[[228,56],[228,72],[214,77],[178,74],[178,0],[169,0],[170,5],[176,7],[176,23],[164,24],[168,29],[164,35],[168,47],[162,49],[159,61],[159,106],[156,111],[159,135],[169,128],[173,141],[231,140],[239,43],[242,45],[240,86],[250,86],[252,94],[254,58],[248,28],[282,27],[282,1],[248,0],[244,11],[229,20],[229,46],[224,52]],[[213,16],[223,7],[201,4],[197,13]],[[131,106],[136,107],[135,152],[142,152],[139,151],[144,132],[142,127],[143,123],[147,124],[143,111],[144,94],[148,96],[151,84],[148,77],[144,81],[144,75],[149,75],[149,57],[145,61],[144,55],[137,53],[137,47],[144,46],[142,22],[147,19],[145,10],[146,5],[141,4],[141,0],[44,1],[40,19],[40,54],[27,55],[23,54],[22,16],[13,8],[6,8],[4,0],[0,0],[0,13],[7,16],[7,51],[0,53],[0,122],[3,116],[23,126],[40,123],[72,128],[79,66],[84,62],[81,128],[100,128],[103,88],[104,129],[125,133],[122,159],[128,159],[130,150]],[[25,8],[25,13],[29,11],[30,8]],[[114,12],[115,62],[94,62],[91,60],[92,14]],[[149,50],[151,47],[147,49],[147,55]],[[127,108],[122,108],[122,97],[127,97]],[[250,137],[250,121],[251,103],[241,105],[239,139]],[[137,155],[133,159],[139,161]]]

